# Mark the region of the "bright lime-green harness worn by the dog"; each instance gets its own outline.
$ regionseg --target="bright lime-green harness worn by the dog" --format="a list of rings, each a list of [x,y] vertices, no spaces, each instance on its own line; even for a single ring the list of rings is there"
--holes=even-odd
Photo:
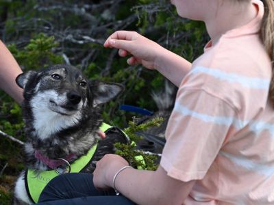
[[[107,131],[108,128],[112,126],[103,123],[100,126],[101,131]],[[81,156],[79,159],[75,160],[71,164],[71,173],[81,172],[92,160],[92,156],[97,149],[97,143],[90,148],[88,153]],[[34,203],[38,202],[42,190],[46,187],[47,183],[58,176],[59,174],[55,170],[43,171],[36,173],[32,169],[27,169],[25,171],[25,187],[27,189],[27,194],[29,198],[32,199]]]

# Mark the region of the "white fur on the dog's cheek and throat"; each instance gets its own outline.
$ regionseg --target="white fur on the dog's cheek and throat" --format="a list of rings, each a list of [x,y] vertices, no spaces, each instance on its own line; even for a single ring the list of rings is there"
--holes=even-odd
[[[53,101],[53,102],[51,102]],[[53,90],[38,92],[30,101],[34,115],[34,128],[40,139],[46,139],[53,133],[77,124],[81,118],[81,109],[67,111],[62,108],[66,103],[65,94]],[[82,107],[80,102],[78,107]]]

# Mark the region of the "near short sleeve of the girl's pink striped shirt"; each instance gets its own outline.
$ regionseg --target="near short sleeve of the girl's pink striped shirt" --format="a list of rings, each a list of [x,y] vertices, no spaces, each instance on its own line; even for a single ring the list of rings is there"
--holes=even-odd
[[[166,128],[160,165],[184,182],[202,179],[234,126],[235,109],[203,89],[182,87]]]

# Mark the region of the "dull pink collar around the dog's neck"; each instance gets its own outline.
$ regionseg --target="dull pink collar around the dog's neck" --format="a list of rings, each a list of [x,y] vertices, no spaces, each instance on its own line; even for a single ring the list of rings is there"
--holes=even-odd
[[[66,163],[62,159],[49,159],[49,157],[42,155],[38,150],[35,150],[34,156],[36,159],[42,161],[42,163],[44,163],[51,169],[56,169],[57,167],[60,167],[61,165]],[[71,159],[73,159],[74,156],[75,156],[75,153],[71,153],[68,156],[66,156],[66,158],[64,158],[64,159],[66,161],[71,161]]]

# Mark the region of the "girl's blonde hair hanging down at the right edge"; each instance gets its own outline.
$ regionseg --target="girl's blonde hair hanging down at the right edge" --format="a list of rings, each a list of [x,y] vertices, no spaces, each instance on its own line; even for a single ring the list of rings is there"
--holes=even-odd
[[[274,1],[273,0],[263,0],[264,3],[264,17],[262,20],[262,27],[260,29],[260,37],[269,54],[272,64],[272,79],[269,89],[269,98],[274,106]]]

